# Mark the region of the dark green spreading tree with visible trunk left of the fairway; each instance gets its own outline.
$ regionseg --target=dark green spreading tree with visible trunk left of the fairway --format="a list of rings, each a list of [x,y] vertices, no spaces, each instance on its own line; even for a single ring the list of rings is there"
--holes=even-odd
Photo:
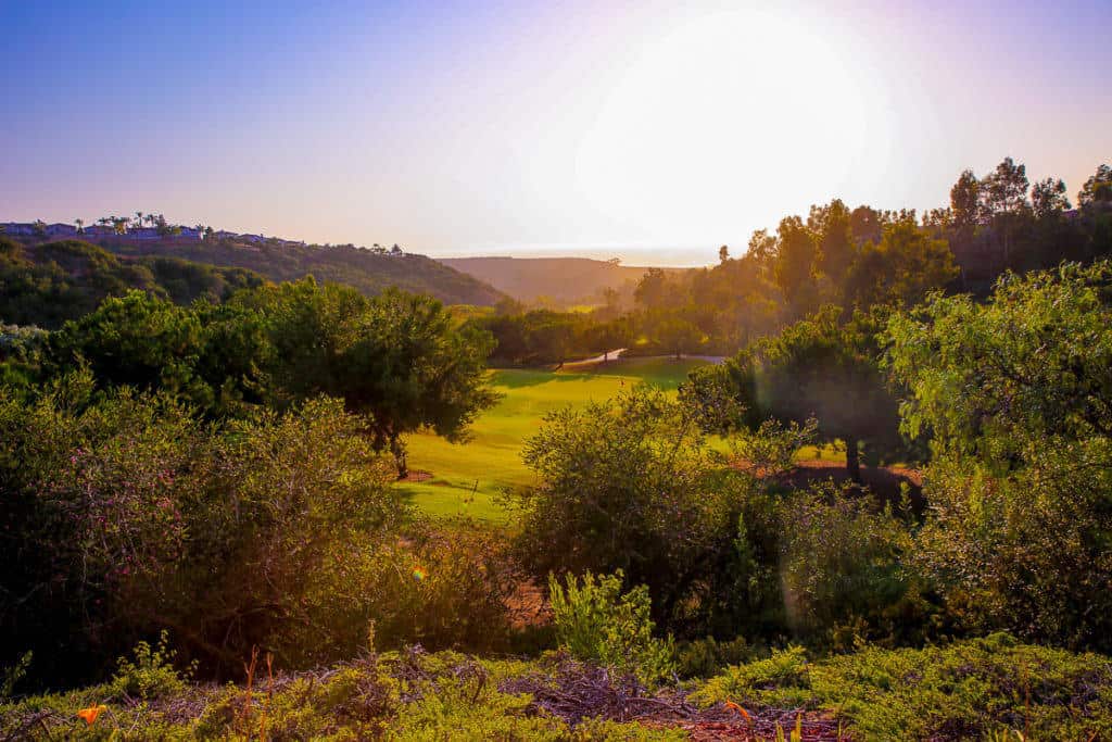
[[[245,297],[274,345],[267,372],[279,404],[327,394],[366,422],[375,447],[408,473],[403,436],[421,427],[458,442],[497,400],[486,376],[492,336],[456,327],[444,306],[397,289],[366,298],[311,278]]]

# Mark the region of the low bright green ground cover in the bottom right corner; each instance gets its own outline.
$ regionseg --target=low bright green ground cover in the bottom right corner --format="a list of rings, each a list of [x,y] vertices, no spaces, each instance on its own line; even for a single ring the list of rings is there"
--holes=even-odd
[[[923,650],[864,647],[804,662],[795,650],[732,667],[696,693],[705,703],[806,704],[870,740],[1026,739],[1112,734],[1108,657],[1023,645],[1004,634]]]

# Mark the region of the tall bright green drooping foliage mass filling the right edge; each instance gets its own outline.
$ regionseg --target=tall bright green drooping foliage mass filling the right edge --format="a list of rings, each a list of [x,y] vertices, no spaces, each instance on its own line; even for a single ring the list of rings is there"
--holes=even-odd
[[[1108,649],[1112,266],[934,296],[888,325],[903,425],[930,431],[917,562],[960,624]]]

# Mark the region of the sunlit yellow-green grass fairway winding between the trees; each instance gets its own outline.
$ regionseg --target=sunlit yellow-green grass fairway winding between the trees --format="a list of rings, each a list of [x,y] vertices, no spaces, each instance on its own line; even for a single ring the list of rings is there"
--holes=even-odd
[[[574,373],[503,369],[492,372],[502,400],[480,416],[466,444],[431,434],[408,439],[409,467],[431,474],[398,487],[428,515],[469,516],[495,524],[507,521],[497,502],[507,487],[533,483],[520,451],[545,413],[612,397],[639,382],[675,389],[703,360],[631,358]]]

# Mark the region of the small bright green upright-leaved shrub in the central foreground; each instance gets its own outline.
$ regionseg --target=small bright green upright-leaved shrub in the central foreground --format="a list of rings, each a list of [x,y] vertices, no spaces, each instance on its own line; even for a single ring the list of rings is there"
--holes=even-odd
[[[653,636],[648,590],[638,585],[623,593],[625,575],[592,573],[583,575],[583,584],[566,575],[562,585],[555,575],[548,576],[548,597],[553,623],[562,649],[585,662],[593,662],[654,683],[675,671],[675,646],[672,640]]]

